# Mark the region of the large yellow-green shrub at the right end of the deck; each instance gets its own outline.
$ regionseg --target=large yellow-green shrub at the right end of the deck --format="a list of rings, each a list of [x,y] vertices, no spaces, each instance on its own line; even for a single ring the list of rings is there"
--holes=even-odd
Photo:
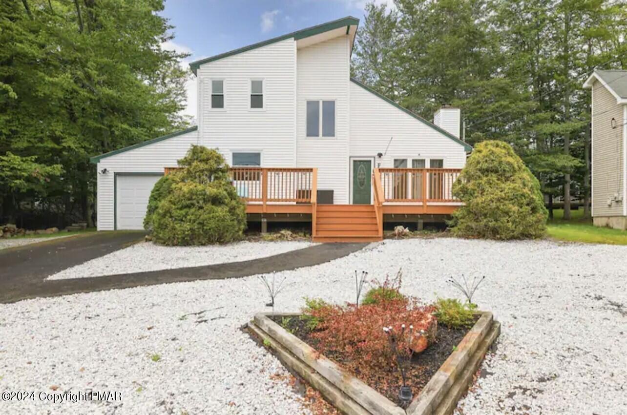
[[[453,195],[464,202],[450,222],[458,236],[524,239],[546,232],[540,183],[505,142],[475,146],[453,184]]]

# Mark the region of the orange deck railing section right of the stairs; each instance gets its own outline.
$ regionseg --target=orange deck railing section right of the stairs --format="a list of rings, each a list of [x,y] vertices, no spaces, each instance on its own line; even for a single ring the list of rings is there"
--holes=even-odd
[[[375,169],[385,202],[459,202],[453,183],[461,169]]]

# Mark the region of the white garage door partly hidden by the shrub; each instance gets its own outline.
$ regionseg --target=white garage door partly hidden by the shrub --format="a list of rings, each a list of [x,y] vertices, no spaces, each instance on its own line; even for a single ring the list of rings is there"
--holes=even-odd
[[[161,174],[117,174],[115,184],[115,227],[144,229],[144,216],[152,187]]]

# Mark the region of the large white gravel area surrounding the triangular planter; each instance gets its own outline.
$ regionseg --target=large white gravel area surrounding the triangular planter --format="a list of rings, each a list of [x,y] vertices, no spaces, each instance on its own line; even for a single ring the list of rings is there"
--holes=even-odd
[[[382,276],[399,266],[403,292],[426,300],[457,294],[449,276],[487,276],[475,300],[502,334],[463,414],[627,413],[627,247],[386,241],[277,273],[291,283],[277,311],[297,310],[305,295],[351,300],[354,270]],[[0,391],[122,392],[122,402],[36,399],[3,402],[2,412],[301,413],[292,389],[270,380],[285,370],[239,330],[265,302],[260,281],[248,277],[0,305]],[[209,311],[181,318],[201,310]]]

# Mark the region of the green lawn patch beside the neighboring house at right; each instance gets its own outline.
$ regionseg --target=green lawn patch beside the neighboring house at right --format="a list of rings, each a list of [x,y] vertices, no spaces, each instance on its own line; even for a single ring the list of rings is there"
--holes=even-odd
[[[627,231],[593,226],[591,219],[583,219],[583,209],[571,211],[571,220],[564,220],[564,211],[554,209],[554,219],[547,224],[549,237],[561,241],[627,245]]]

